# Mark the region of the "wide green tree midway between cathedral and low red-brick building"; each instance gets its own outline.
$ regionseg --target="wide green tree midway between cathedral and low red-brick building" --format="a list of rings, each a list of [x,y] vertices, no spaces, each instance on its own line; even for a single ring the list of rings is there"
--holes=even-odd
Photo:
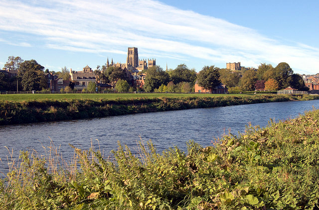
[[[188,82],[194,85],[196,82],[196,71],[189,70],[185,64],[179,64],[176,69],[169,71],[169,75],[174,84]]]

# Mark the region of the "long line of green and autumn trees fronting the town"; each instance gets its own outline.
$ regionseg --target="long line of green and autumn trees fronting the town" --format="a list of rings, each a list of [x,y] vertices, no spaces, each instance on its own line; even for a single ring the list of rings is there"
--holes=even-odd
[[[60,72],[49,71],[35,60],[23,61],[20,57],[10,56],[4,64],[6,70],[17,70],[16,77],[9,77],[0,73],[0,90],[14,91],[18,86],[23,91],[41,91],[47,89],[45,73],[56,74],[63,80],[69,79],[69,70],[64,67]],[[153,66],[139,74],[146,74],[143,87],[135,85],[132,77],[120,67],[97,66],[94,73],[98,81],[110,84],[117,91],[146,91],[146,92],[194,92],[197,84],[205,89],[211,89],[220,83],[226,85],[231,91],[271,90],[277,91],[287,87],[307,91],[303,78],[294,74],[287,63],[279,63],[276,67],[262,63],[258,69],[245,69],[231,71],[215,66],[204,66],[196,73],[185,64],[178,65],[175,69],[164,71],[160,66]],[[17,84],[16,84],[17,83]],[[73,89],[74,84],[70,83]],[[96,84],[89,84],[87,91],[95,91]],[[70,89],[71,90],[71,89]]]

